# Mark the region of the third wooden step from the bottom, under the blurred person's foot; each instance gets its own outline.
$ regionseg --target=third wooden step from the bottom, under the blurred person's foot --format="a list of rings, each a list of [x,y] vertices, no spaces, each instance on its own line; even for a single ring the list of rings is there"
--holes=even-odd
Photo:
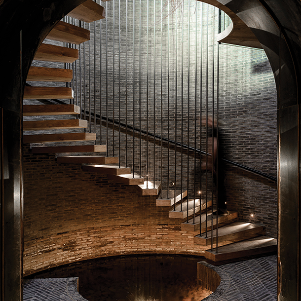
[[[181,230],[182,231],[199,231],[200,230],[200,219],[201,219],[201,229],[203,231],[206,227],[206,213],[196,216],[194,219],[194,223],[193,223],[193,219],[190,219],[188,221],[188,223],[182,223]],[[223,215],[223,216],[219,215],[218,216],[218,223],[219,224],[229,223],[235,219],[237,219],[237,212],[228,211],[227,215]],[[213,215],[213,226],[216,225],[216,222],[217,222],[217,217],[214,214]],[[208,215],[207,215],[207,227],[211,227],[211,211],[208,212]]]

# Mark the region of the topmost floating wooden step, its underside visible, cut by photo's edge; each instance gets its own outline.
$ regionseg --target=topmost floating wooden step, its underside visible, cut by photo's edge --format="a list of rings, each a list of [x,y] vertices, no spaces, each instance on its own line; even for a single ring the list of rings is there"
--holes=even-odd
[[[87,0],[75,7],[68,16],[80,21],[91,23],[93,21],[106,18],[106,10],[103,6],[96,2]]]

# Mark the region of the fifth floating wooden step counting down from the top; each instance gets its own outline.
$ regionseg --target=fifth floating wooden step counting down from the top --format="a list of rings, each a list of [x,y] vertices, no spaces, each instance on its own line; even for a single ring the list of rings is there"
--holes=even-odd
[[[73,95],[73,90],[66,87],[25,87],[23,99],[66,99]]]

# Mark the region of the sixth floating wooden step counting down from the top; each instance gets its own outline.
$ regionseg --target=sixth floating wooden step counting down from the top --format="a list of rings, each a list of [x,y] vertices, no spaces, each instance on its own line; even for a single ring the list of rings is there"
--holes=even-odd
[[[23,116],[79,114],[80,107],[75,105],[24,105]]]

